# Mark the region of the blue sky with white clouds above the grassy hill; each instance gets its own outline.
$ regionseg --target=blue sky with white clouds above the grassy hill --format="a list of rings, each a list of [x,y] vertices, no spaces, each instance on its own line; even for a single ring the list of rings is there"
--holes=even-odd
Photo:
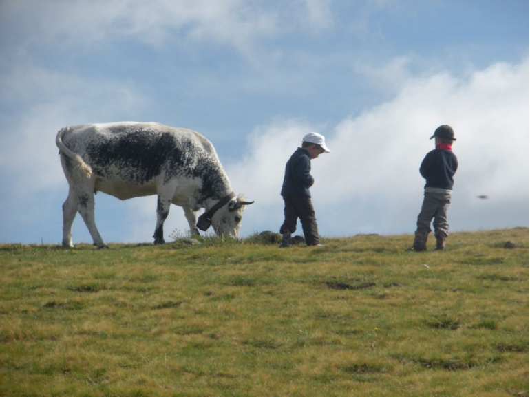
[[[255,201],[242,237],[279,229],[311,131],[332,151],[312,161],[321,235],[413,233],[442,124],[451,230],[528,227],[529,85],[526,0],[0,0],[0,243],[61,243],[56,133],[116,121],[206,136]],[[151,242],[156,197],[98,194],[96,223]],[[172,206],[166,240],[186,230]],[[92,242],[80,215],[73,234]]]

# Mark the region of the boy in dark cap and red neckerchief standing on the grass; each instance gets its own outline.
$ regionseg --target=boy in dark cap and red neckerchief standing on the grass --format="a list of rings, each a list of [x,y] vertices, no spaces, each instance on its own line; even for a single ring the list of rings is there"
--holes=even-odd
[[[456,140],[454,131],[449,125],[441,125],[434,131],[436,149],[425,155],[421,162],[420,173],[425,178],[425,193],[421,212],[418,215],[414,244],[411,250],[427,250],[427,237],[431,232],[430,223],[434,218],[434,235],[436,249],[445,249],[445,239],[449,235],[447,208],[451,204],[453,176],[458,168],[458,160],[452,152]]]

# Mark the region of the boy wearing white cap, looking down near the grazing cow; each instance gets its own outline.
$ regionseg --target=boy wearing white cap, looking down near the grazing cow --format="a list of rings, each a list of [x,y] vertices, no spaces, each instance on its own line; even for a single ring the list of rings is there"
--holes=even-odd
[[[279,229],[279,233],[282,234],[280,247],[289,245],[290,236],[295,233],[298,218],[300,218],[306,244],[317,246],[320,243],[317,218],[312,206],[309,188],[315,182],[310,173],[311,160],[322,153],[331,153],[330,149],[326,147],[324,136],[311,132],[304,136],[301,147],[290,156],[286,164],[284,184],[282,185],[285,219]]]

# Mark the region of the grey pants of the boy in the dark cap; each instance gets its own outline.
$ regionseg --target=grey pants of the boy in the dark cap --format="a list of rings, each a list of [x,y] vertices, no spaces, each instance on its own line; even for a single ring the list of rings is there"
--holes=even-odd
[[[421,212],[418,215],[416,231],[430,233],[431,222],[434,222],[434,235],[441,233],[449,235],[449,224],[447,223],[447,208],[451,204],[451,195],[448,193],[425,192]]]

